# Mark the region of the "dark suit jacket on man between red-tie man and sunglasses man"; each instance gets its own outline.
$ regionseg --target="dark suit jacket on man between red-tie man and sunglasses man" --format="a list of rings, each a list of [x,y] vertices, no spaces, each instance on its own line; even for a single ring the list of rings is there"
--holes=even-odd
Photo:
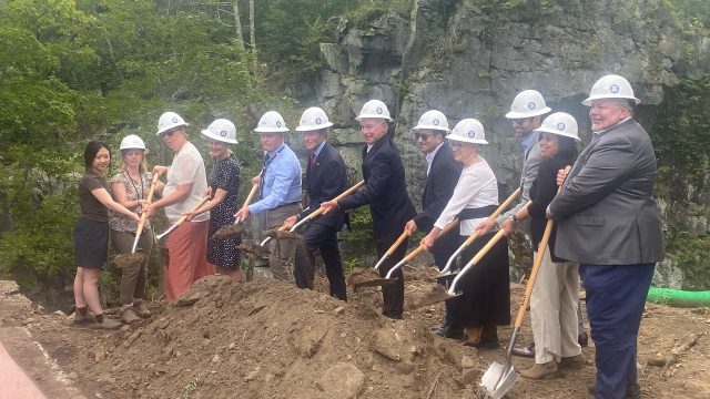
[[[376,233],[403,233],[404,225],[417,212],[405,186],[399,151],[388,134],[376,141],[369,152],[363,149],[363,177],[366,186],[338,201],[341,209],[369,205]]]

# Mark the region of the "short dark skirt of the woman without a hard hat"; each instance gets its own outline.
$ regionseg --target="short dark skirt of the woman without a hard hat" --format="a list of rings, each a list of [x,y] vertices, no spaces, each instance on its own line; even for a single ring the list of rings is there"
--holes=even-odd
[[[72,233],[79,267],[103,267],[109,259],[109,224],[79,218]]]

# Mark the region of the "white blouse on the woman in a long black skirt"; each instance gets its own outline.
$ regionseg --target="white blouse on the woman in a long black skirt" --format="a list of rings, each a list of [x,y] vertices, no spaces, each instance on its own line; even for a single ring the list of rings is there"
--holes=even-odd
[[[489,205],[498,205],[498,182],[488,162],[484,160],[464,168],[456,188],[454,188],[452,200],[434,226],[443,229],[464,208],[479,208]],[[460,234],[463,236],[474,234],[476,226],[485,219],[486,217],[480,217],[462,222]]]

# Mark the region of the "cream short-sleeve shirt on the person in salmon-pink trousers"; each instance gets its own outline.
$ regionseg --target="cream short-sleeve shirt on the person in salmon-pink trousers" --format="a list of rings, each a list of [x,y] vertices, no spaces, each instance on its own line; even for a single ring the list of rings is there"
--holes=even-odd
[[[192,209],[202,200],[202,194],[207,191],[207,176],[204,172],[204,161],[197,149],[190,142],[180,149],[173,158],[173,163],[168,170],[168,184],[163,188],[163,197],[169,196],[178,190],[181,184],[191,184],[190,196],[178,204],[165,207],[168,222],[175,223],[182,214]],[[210,212],[195,216],[192,222],[206,222],[210,219]]]

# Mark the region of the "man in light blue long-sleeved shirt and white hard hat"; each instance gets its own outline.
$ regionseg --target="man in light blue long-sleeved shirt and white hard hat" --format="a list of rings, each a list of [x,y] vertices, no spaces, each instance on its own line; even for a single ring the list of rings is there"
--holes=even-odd
[[[266,226],[278,228],[286,218],[301,212],[301,164],[296,154],[284,143],[286,123],[276,111],[266,112],[254,132],[261,135],[264,149],[264,167],[252,184],[261,185],[258,201],[241,208],[234,217],[246,221],[251,214],[266,213]],[[271,242],[268,267],[274,278],[293,280],[291,257],[295,243],[292,239]]]

